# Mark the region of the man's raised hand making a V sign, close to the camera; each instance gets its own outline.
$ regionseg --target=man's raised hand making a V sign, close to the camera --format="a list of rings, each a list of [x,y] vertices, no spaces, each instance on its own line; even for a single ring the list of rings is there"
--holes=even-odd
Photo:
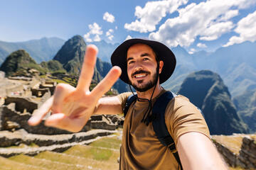
[[[45,124],[51,127],[78,132],[95,110],[97,101],[105,94],[121,75],[119,67],[112,67],[107,76],[90,91],[94,67],[96,63],[97,47],[88,45],[78,86],[58,84],[52,97],[50,97],[28,120],[29,125],[38,125],[51,110]]]

